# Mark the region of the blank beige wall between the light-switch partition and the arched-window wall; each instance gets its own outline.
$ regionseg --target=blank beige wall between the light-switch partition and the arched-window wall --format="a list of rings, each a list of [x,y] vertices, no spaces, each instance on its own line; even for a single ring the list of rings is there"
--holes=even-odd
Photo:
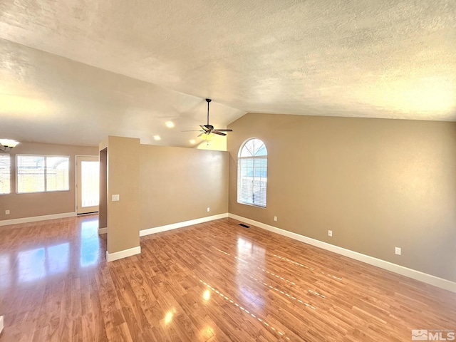
[[[227,152],[140,145],[140,165],[140,229],[228,211]]]

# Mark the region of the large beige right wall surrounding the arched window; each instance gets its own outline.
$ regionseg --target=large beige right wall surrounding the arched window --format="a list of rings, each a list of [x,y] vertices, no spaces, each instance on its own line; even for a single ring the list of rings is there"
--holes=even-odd
[[[456,123],[247,114],[229,128],[229,212],[456,281]],[[252,137],[269,152],[266,209],[236,200]]]

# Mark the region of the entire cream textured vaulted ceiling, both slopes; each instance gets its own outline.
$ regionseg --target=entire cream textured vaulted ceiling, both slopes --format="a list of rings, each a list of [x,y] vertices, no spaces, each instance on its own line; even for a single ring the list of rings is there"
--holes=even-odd
[[[246,112],[456,120],[454,0],[1,1],[0,53],[10,138],[187,146],[205,97],[222,126]]]

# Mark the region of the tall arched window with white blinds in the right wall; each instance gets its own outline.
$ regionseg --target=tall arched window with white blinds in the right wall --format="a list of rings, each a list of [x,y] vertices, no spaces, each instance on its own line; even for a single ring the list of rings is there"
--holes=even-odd
[[[268,151],[264,142],[249,139],[237,155],[237,202],[266,207]]]

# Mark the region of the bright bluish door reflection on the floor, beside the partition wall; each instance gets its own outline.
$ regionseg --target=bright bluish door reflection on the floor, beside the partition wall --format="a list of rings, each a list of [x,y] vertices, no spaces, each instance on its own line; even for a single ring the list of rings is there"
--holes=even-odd
[[[100,256],[98,240],[98,219],[82,222],[81,224],[81,267],[94,265]]]

